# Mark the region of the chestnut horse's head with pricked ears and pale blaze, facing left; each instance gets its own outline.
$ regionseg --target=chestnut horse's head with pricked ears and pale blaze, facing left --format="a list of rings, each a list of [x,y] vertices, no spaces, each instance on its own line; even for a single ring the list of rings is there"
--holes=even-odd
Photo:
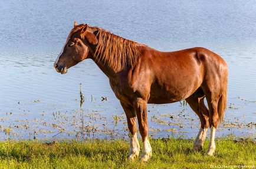
[[[74,28],[68,35],[60,55],[54,62],[57,72],[61,74],[67,73],[69,67],[77,65],[84,59],[91,58],[93,56],[92,48],[97,43],[96,35],[88,28],[87,24],[77,25],[75,21]]]

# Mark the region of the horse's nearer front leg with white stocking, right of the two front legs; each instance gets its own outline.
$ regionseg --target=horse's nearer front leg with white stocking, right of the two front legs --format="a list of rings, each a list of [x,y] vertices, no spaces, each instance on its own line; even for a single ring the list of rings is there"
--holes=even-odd
[[[147,102],[142,98],[137,98],[134,102],[135,111],[139,123],[139,131],[142,136],[142,161],[147,161],[152,156],[152,148],[147,138]]]

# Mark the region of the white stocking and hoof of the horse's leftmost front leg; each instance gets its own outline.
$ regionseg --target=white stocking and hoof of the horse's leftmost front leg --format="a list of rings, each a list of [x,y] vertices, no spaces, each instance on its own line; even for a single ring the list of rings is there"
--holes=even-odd
[[[139,157],[140,144],[137,139],[137,133],[135,133],[134,135],[130,133],[129,135],[130,135],[130,153],[128,155],[128,158],[129,160],[133,160],[134,158]]]

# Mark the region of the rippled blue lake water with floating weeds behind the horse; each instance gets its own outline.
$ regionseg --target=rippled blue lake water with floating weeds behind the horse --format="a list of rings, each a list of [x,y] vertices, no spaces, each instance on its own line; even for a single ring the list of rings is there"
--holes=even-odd
[[[0,139],[127,136],[122,107],[92,60],[65,75],[53,67],[75,20],[158,50],[202,46],[218,53],[229,67],[229,109],[216,136],[256,136],[255,1],[5,1]],[[151,137],[191,138],[198,132],[198,117],[183,102],[150,104],[148,110]]]

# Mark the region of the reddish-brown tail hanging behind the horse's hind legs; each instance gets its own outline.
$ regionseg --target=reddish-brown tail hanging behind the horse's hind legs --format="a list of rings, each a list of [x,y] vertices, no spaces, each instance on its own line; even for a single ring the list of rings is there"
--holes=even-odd
[[[223,90],[221,93],[221,97],[219,98],[218,102],[218,116],[219,116],[219,123],[221,123],[225,110],[227,109],[227,86],[228,86],[228,78],[227,76],[225,77],[225,82],[223,85]]]

